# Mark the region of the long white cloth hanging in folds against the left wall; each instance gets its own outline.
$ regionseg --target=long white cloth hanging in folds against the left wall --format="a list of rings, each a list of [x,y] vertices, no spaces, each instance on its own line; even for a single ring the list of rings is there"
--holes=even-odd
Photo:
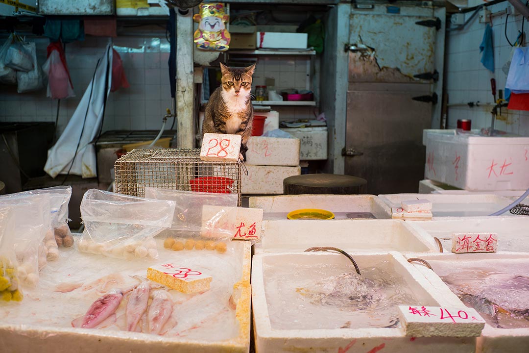
[[[97,62],[94,77],[71,116],[65,131],[62,132],[57,143],[48,150],[48,160],[44,170],[51,177],[54,178],[59,174],[81,175],[83,178],[97,176],[95,146],[90,142],[99,132],[103,121],[105,94],[108,97],[111,86],[112,42],[109,42],[104,55]]]

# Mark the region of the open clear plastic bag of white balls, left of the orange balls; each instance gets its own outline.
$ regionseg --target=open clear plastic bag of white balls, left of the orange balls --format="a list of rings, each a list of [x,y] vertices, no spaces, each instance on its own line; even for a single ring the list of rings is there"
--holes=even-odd
[[[153,237],[170,227],[175,203],[89,189],[80,206],[79,251],[121,259],[158,258]]]

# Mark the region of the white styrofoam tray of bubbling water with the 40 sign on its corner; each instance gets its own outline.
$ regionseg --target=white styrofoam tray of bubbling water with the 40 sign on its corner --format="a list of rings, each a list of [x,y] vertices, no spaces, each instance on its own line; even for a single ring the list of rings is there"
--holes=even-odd
[[[355,276],[354,267],[343,255],[305,252],[259,254],[253,257],[252,305],[256,351],[376,352],[382,348],[394,353],[474,351],[475,338],[405,337],[399,322],[391,321],[387,325],[388,317],[381,317],[376,310],[372,313],[368,307],[361,307],[364,301],[379,299],[379,304],[382,305],[384,301],[387,313],[391,315],[394,305],[400,301],[412,300],[420,303],[417,305],[434,306],[443,306],[446,302],[437,295],[424,276],[397,252],[351,255],[363,271],[362,279],[366,283],[374,283],[375,287],[377,283],[389,286],[373,290],[370,292],[373,295],[362,295],[361,288],[346,294],[351,297],[358,294],[359,307],[356,310],[363,311],[351,312],[351,315],[347,315],[347,311],[355,309],[341,307],[340,303],[336,303],[340,296],[335,296],[336,287],[342,287],[338,279],[350,273]],[[323,287],[326,284],[336,286],[331,294],[322,295],[318,289],[322,283]],[[400,292],[404,297],[385,295],[388,290],[399,292],[397,288],[406,288],[405,293]],[[451,303],[451,307],[463,309],[464,305]],[[340,312],[340,308],[344,312]],[[363,315],[364,319],[353,322],[358,314]]]

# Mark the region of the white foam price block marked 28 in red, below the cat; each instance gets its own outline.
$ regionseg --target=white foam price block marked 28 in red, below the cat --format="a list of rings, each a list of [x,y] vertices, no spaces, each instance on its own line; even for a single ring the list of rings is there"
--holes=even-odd
[[[207,161],[237,161],[241,135],[206,133],[200,149],[200,159]]]

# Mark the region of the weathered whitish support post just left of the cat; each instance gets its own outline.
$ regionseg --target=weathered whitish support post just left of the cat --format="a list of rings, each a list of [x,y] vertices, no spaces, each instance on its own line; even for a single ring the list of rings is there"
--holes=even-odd
[[[174,10],[177,11],[178,10]],[[177,147],[193,148],[195,124],[193,123],[193,11],[185,16],[176,15],[176,119]]]

